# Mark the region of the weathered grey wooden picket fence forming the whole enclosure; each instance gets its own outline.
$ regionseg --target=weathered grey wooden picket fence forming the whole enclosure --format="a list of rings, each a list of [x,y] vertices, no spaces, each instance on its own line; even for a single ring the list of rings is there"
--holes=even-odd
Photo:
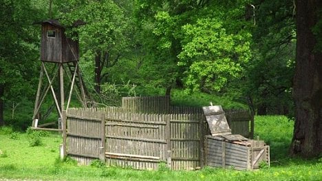
[[[210,132],[201,109],[167,107],[167,98],[151,99],[150,107],[134,106],[149,98],[123,98],[122,107],[69,109],[67,155],[82,164],[100,159],[133,169],[156,169],[160,162],[174,170],[202,167],[204,136]],[[233,134],[250,136],[247,112],[227,111],[226,116]]]

